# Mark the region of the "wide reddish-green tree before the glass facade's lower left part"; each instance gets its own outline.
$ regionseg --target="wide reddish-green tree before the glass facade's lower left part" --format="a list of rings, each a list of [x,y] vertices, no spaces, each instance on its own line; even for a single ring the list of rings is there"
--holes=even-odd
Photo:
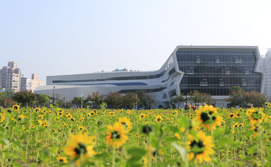
[[[187,100],[187,97],[186,97]],[[186,101],[185,100],[185,101]],[[196,107],[200,105],[200,103],[205,103],[208,105],[215,106],[216,101],[209,93],[199,92],[199,91],[191,91],[189,93],[189,99],[190,102],[194,103]]]

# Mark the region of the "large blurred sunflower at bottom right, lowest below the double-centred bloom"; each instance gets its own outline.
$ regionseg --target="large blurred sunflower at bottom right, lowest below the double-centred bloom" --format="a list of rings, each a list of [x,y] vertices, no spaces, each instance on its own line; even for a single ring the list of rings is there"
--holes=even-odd
[[[215,147],[212,136],[206,136],[204,131],[198,131],[197,138],[198,140],[194,136],[188,135],[188,141],[186,142],[188,149],[190,149],[187,155],[188,160],[195,157],[194,163],[199,161],[201,164],[203,160],[210,162],[211,157],[209,155],[214,154],[212,147]]]

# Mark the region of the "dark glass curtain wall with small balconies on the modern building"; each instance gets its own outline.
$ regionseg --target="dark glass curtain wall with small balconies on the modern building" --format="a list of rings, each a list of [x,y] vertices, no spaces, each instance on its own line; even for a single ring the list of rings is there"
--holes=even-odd
[[[176,57],[179,70],[185,73],[179,85],[184,95],[197,90],[213,96],[227,96],[233,86],[260,92],[261,75],[253,72],[256,65],[254,51],[179,49]]]

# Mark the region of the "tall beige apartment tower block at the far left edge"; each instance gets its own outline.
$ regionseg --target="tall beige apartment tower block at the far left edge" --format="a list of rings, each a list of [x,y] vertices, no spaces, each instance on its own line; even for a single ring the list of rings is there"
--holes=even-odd
[[[20,91],[20,81],[23,74],[18,68],[17,61],[8,62],[8,66],[3,66],[0,70],[0,87]]]

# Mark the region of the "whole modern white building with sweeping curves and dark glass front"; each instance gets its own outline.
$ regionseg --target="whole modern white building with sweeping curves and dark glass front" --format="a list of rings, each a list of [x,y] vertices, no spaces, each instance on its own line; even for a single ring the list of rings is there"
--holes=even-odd
[[[170,107],[170,97],[199,91],[211,94],[216,107],[227,107],[224,100],[233,86],[263,93],[265,73],[259,70],[257,46],[177,46],[156,71],[113,71],[76,75],[47,76],[45,86],[34,93],[60,94],[66,100],[93,92],[107,95],[144,91],[155,94],[156,107]]]

